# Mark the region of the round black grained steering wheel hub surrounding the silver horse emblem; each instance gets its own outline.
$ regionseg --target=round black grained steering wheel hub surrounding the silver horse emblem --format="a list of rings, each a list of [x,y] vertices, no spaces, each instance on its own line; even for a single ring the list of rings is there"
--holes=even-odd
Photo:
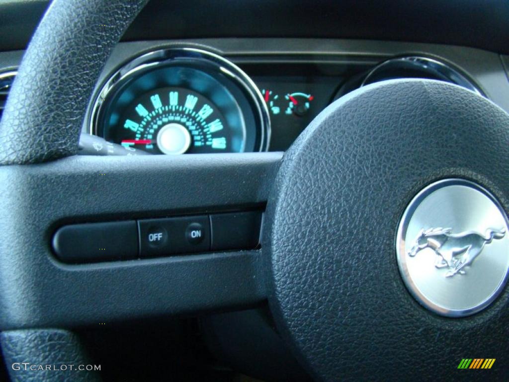
[[[431,181],[472,179],[507,210],[508,173],[509,116],[453,85],[371,85],[312,122],[284,156],[262,248],[278,328],[317,379],[507,380],[507,288],[471,317],[434,315],[405,288],[394,240]],[[466,357],[496,367],[465,375]]]

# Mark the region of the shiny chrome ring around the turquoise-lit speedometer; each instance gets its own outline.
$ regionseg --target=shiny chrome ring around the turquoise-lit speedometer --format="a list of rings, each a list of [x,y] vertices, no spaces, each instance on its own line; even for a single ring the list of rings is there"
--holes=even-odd
[[[142,54],[120,67],[111,74],[104,85],[96,93],[89,117],[89,133],[97,134],[99,131],[100,117],[107,106],[108,97],[121,89],[126,81],[135,74],[149,68],[172,64],[181,59],[205,60],[213,64],[218,73],[228,77],[246,96],[252,106],[252,112],[257,123],[259,144],[254,148],[255,152],[267,151],[270,143],[270,116],[265,100],[258,87],[251,78],[231,61],[216,53],[194,47],[168,47]]]

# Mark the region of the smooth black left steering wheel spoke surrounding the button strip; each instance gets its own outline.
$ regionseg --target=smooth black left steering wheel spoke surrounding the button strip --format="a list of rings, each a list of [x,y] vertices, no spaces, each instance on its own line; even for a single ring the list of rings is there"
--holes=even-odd
[[[263,208],[280,158],[74,156],[0,167],[0,329],[67,328],[264,301],[260,251],[65,265],[55,261],[51,237],[72,223]]]

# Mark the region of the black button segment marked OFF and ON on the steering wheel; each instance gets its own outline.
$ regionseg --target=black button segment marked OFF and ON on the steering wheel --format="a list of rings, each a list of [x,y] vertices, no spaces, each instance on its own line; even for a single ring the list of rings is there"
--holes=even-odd
[[[139,220],[138,229],[142,258],[210,251],[208,215]]]

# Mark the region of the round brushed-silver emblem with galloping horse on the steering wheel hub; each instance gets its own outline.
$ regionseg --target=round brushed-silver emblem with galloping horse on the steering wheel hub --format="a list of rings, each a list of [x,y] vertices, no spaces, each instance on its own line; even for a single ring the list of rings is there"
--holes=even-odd
[[[435,182],[410,202],[398,228],[403,281],[437,314],[476,313],[507,281],[508,231],[502,206],[486,189],[462,179]]]

